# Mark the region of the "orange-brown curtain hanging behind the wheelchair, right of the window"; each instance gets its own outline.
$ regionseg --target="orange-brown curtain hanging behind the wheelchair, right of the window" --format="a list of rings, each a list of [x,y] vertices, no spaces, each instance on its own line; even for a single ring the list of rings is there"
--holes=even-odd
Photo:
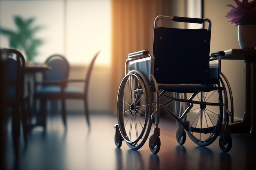
[[[152,53],[153,26],[157,15],[172,16],[173,0],[112,0],[111,109],[116,113],[119,84],[125,76],[125,61],[132,52]]]

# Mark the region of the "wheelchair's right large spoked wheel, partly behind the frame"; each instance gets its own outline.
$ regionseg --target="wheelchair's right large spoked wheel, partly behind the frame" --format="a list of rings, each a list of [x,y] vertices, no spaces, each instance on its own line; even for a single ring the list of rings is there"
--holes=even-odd
[[[212,91],[200,91],[191,95],[194,103],[186,115],[189,137],[199,146],[208,146],[215,141],[220,133],[223,121],[222,91],[218,88]],[[211,105],[209,103],[215,103]],[[190,106],[189,106],[190,107]]]

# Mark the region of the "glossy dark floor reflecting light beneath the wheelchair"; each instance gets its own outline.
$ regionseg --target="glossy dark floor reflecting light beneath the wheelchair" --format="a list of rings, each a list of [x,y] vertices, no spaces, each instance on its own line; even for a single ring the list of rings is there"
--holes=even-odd
[[[148,141],[139,150],[131,150],[124,142],[114,143],[116,117],[91,114],[91,130],[83,115],[69,115],[67,132],[60,116],[49,116],[47,132],[34,128],[20,153],[13,154],[8,133],[6,170],[255,170],[256,139],[249,134],[232,134],[233,147],[228,153],[220,150],[218,139],[208,147],[194,144],[189,137],[183,146],[177,144],[177,126],[170,119],[160,119],[161,149],[150,152]],[[9,127],[10,129],[10,127]],[[153,131],[150,132],[150,135]]]

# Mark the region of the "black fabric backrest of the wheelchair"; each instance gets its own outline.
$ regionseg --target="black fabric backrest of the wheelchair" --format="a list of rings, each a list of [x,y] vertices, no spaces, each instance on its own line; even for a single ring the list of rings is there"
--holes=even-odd
[[[210,29],[155,27],[153,69],[157,83],[213,84],[209,71],[210,39]]]

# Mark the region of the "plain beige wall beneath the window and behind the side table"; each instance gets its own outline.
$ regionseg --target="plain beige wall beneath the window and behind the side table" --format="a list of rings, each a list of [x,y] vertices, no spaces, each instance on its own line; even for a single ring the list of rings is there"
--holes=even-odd
[[[184,8],[178,3],[179,8]],[[204,0],[204,17],[212,21],[211,52],[225,51],[227,49],[240,49],[237,39],[237,27],[230,24],[225,18],[230,10],[225,7],[227,4],[235,5],[234,0]],[[177,10],[182,11],[182,10]],[[184,15],[184,13],[180,13]],[[232,88],[234,97],[235,119],[242,119],[244,113],[244,62],[240,60],[222,60],[222,72],[227,76]],[[95,67],[89,93],[90,110],[110,110],[110,68]],[[83,71],[79,68],[71,69],[71,77],[83,76]],[[82,103],[70,101],[67,103],[70,110],[83,107]]]

